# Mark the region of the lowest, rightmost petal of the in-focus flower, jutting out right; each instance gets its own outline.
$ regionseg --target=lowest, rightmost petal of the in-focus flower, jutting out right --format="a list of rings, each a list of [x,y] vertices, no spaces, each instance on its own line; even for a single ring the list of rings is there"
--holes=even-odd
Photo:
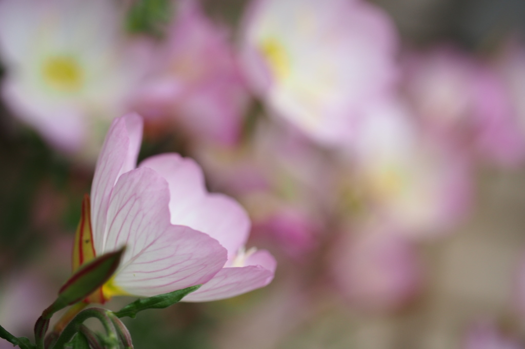
[[[264,287],[274,279],[276,261],[266,250],[251,255],[247,264],[245,267],[223,268],[183,301],[204,302],[234,297]]]

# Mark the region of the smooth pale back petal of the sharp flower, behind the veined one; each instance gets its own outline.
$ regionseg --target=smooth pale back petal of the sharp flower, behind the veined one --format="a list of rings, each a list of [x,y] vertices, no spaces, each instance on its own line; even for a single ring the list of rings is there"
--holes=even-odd
[[[248,237],[250,221],[246,211],[222,194],[208,194],[201,168],[178,154],[150,157],[140,164],[164,177],[170,187],[171,223],[186,225],[217,239],[230,256]]]

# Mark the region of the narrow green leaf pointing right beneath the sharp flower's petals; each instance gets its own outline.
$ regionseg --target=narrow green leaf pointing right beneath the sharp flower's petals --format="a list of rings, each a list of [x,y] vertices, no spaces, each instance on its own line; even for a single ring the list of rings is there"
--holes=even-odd
[[[196,291],[202,285],[191,286],[182,290],[177,290],[169,293],[164,293],[163,295],[153,296],[148,298],[141,298],[133,303],[129,303],[124,308],[115,312],[119,318],[130,317],[134,318],[137,316],[137,313],[146,309],[163,309],[173,304],[179,302],[189,293]]]

